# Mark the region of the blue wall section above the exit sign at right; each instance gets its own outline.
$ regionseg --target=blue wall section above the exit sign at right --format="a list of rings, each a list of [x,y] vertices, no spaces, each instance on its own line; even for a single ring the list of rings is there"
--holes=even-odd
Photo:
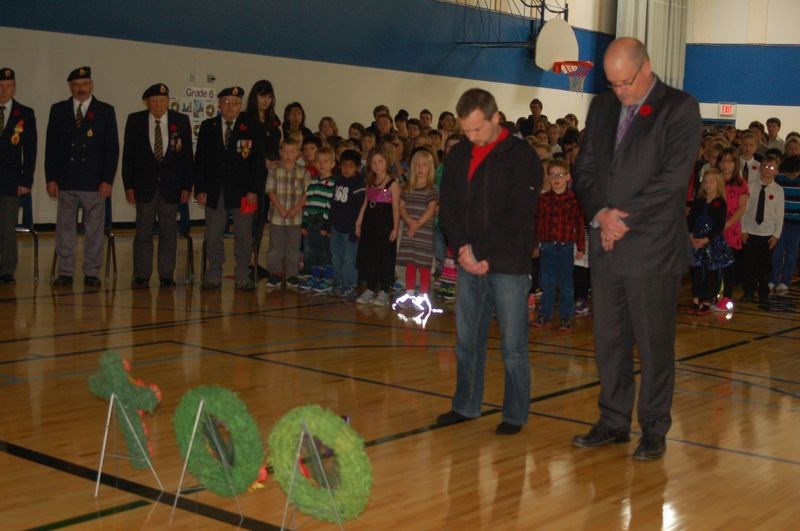
[[[800,105],[800,46],[689,44],[684,88],[703,102]]]

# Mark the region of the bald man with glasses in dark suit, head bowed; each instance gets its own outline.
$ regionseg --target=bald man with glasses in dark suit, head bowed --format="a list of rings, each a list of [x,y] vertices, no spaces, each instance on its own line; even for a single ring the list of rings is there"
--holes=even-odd
[[[592,220],[592,303],[600,419],[572,443],[594,448],[630,440],[637,403],[642,438],[633,457],[660,459],[675,386],[675,315],[690,259],[684,201],[700,145],[697,101],[653,73],[644,45],[621,38],[606,50],[611,90],[589,108],[575,191]]]

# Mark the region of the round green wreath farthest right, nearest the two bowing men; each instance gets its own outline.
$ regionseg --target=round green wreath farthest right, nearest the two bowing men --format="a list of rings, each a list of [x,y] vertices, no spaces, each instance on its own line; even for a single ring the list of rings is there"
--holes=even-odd
[[[372,490],[372,465],[364,452],[364,441],[342,418],[318,405],[307,405],[286,413],[269,435],[270,464],[273,477],[284,492],[292,484],[291,502],[301,511],[320,520],[336,522],[330,507],[328,491],[307,481],[299,470],[297,447],[303,421],[310,435],[333,450],[338,465],[339,481],[333,488],[333,499],[343,520],[355,518],[364,511]]]

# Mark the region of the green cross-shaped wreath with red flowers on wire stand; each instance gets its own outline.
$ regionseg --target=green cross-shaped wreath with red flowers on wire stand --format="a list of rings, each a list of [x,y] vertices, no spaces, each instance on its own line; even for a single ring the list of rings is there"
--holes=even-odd
[[[144,423],[144,412],[153,413],[161,402],[161,391],[155,384],[145,385],[142,380],[134,380],[130,376],[131,366],[117,352],[106,352],[100,358],[100,371],[89,378],[89,390],[99,398],[117,397],[116,405],[124,410],[125,415],[117,414],[117,424],[125,438],[128,455],[134,468],[147,468],[147,456],[142,452],[141,443],[153,455],[153,447],[147,436],[147,425]],[[130,420],[130,425],[125,420]],[[131,430],[133,426],[133,430]]]

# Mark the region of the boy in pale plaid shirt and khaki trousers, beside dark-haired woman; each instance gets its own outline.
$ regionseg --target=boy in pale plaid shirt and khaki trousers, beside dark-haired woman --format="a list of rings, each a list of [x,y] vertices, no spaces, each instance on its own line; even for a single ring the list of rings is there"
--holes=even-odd
[[[269,211],[269,252],[267,286],[281,285],[281,272],[289,288],[300,284],[300,223],[306,203],[306,189],[311,182],[308,172],[297,164],[300,149],[297,142],[284,140],[280,148],[280,164],[267,177],[267,195],[272,203]]]

